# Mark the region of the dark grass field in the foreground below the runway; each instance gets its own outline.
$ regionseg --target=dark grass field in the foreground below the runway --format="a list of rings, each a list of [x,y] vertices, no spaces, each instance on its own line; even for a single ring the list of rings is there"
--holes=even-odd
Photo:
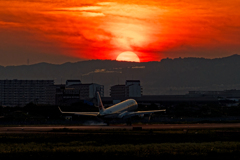
[[[239,159],[237,129],[55,130],[48,134],[0,134],[3,158]]]

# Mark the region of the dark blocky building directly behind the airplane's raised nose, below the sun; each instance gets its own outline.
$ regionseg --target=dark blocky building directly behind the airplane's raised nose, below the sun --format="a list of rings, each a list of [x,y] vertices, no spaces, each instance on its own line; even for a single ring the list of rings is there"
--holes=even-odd
[[[126,80],[125,85],[115,85],[110,90],[110,96],[114,98],[142,96],[140,80]]]

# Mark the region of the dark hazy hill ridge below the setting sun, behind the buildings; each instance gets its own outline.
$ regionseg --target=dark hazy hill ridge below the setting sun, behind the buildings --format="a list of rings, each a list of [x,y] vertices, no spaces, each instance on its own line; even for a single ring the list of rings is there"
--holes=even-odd
[[[190,90],[240,89],[240,55],[224,58],[176,58],[160,62],[89,60],[61,65],[39,63],[0,66],[0,79],[50,79],[56,84],[67,79],[110,86],[138,79],[143,94],[185,94]]]

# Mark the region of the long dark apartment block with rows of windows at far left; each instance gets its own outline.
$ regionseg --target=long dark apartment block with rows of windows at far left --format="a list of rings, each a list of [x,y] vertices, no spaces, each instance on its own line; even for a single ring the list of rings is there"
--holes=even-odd
[[[53,80],[0,80],[0,105],[24,106],[54,104],[56,88]]]

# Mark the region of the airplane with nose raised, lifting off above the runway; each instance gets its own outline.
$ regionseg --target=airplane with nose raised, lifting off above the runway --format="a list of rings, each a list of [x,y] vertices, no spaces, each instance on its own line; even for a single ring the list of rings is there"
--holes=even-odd
[[[134,111],[138,108],[138,103],[134,99],[127,99],[111,107],[105,108],[102,104],[102,100],[99,92],[97,92],[97,99],[98,99],[99,112],[63,112],[60,109],[60,107],[58,108],[62,114],[74,114],[74,115],[98,117],[102,120],[105,120],[107,125],[109,125],[110,120],[113,120],[113,119],[130,119],[132,116],[137,116],[137,115],[144,116],[145,114],[151,115],[152,113],[155,113],[155,112],[166,111],[166,109],[150,110],[150,111]],[[131,121],[128,121],[127,124],[131,125]]]

